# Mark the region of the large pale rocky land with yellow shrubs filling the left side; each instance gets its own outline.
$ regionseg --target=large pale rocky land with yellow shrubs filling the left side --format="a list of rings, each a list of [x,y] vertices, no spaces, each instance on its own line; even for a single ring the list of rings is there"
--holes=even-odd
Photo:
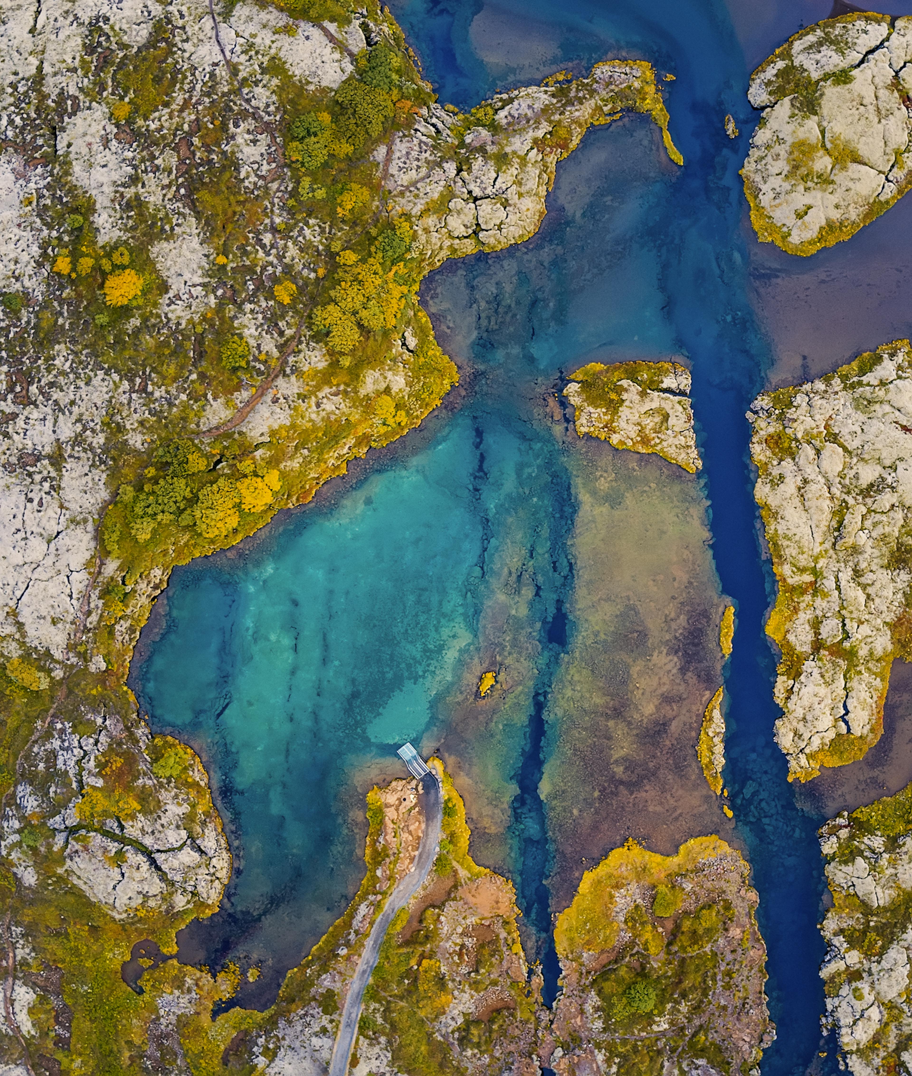
[[[139,943],[173,952],[230,873],[202,767],[150,736],[125,688],[151,604],[173,565],[439,404],[458,374],[418,284],[531,236],[590,125],[645,113],[681,157],[648,63],[462,114],[374,3],[12,4],[0,46],[0,1063],[231,1067],[259,1020],[211,1017],[238,967],[150,961],[141,993],[121,976]],[[489,896],[520,968],[506,882]],[[492,999],[478,1011],[513,1019]],[[319,1044],[290,1013],[257,1039],[264,1064]]]

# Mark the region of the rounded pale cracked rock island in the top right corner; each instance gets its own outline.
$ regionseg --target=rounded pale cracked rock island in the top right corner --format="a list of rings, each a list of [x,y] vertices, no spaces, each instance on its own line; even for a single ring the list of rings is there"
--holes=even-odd
[[[912,18],[859,13],[795,34],[747,96],[742,175],[759,238],[791,254],[847,239],[912,185]]]

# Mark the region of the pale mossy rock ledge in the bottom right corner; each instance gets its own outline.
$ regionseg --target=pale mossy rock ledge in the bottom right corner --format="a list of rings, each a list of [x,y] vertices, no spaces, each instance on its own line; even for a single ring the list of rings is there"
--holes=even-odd
[[[827,1019],[854,1076],[912,1072],[912,785],[820,830]]]

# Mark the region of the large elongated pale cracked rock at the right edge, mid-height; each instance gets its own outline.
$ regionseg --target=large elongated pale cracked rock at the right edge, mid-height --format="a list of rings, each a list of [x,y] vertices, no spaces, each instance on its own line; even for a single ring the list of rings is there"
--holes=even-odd
[[[778,580],[776,740],[789,774],[859,758],[910,642],[912,352],[885,344],[748,414],[755,497]]]

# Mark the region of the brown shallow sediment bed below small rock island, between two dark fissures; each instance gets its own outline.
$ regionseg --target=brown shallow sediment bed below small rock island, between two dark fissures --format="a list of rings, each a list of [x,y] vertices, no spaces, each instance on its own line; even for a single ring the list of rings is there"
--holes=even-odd
[[[721,681],[722,603],[700,487],[655,455],[577,447],[576,637],[551,691],[560,735],[542,784],[557,910],[629,837],[667,855],[705,833],[734,840],[696,751]]]

